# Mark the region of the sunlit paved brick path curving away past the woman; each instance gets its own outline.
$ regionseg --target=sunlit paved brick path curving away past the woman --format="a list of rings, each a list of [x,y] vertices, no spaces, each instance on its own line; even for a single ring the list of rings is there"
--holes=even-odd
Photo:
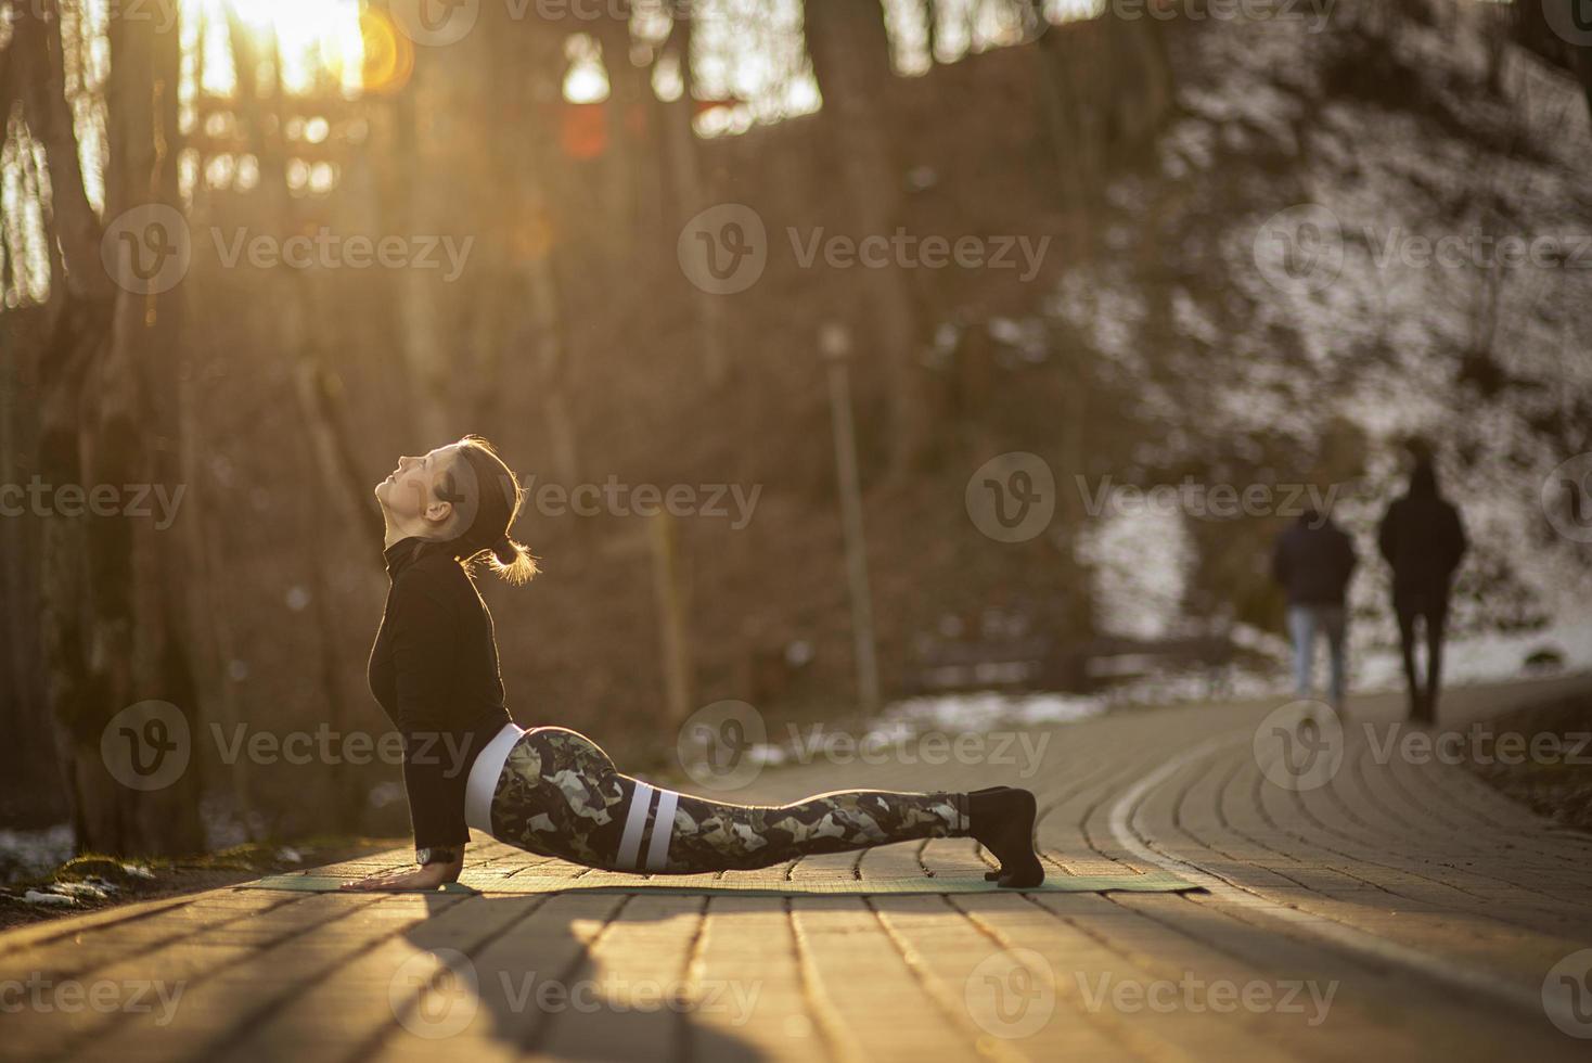
[[[1586,683],[1463,691],[1444,726],[1570,689]],[[742,791],[1028,785],[1059,872],[1173,869],[1207,893],[220,890],[0,936],[0,1057],[1587,1058],[1592,1042],[1547,1007],[1592,1036],[1592,985],[1568,1006],[1544,1004],[1543,987],[1592,948],[1592,837],[1458,765],[1385,756],[1393,699],[1353,705],[1323,785],[1278,785],[1253,745],[1270,708],[1040,729],[1043,767],[1027,780],[1016,765],[815,764]],[[470,861],[481,877],[583,874],[492,842]],[[788,874],[984,866],[958,840]]]

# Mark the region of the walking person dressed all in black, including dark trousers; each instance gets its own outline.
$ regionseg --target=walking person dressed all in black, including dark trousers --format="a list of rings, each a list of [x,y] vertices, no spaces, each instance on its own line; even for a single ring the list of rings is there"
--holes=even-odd
[[[1409,718],[1438,719],[1442,679],[1442,630],[1449,619],[1449,587],[1468,546],[1460,511],[1438,493],[1438,473],[1420,457],[1409,492],[1388,506],[1377,535],[1382,557],[1393,567],[1393,611],[1398,614]],[[1426,624],[1426,683],[1415,675],[1415,621]]]

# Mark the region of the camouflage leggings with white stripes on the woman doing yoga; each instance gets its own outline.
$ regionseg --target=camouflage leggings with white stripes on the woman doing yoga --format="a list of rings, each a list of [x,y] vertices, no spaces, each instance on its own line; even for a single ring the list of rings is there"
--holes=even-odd
[[[732,805],[621,775],[586,735],[527,730],[492,794],[492,835],[605,870],[688,875],[772,867],[968,832],[963,794],[844,791],[790,805]]]

